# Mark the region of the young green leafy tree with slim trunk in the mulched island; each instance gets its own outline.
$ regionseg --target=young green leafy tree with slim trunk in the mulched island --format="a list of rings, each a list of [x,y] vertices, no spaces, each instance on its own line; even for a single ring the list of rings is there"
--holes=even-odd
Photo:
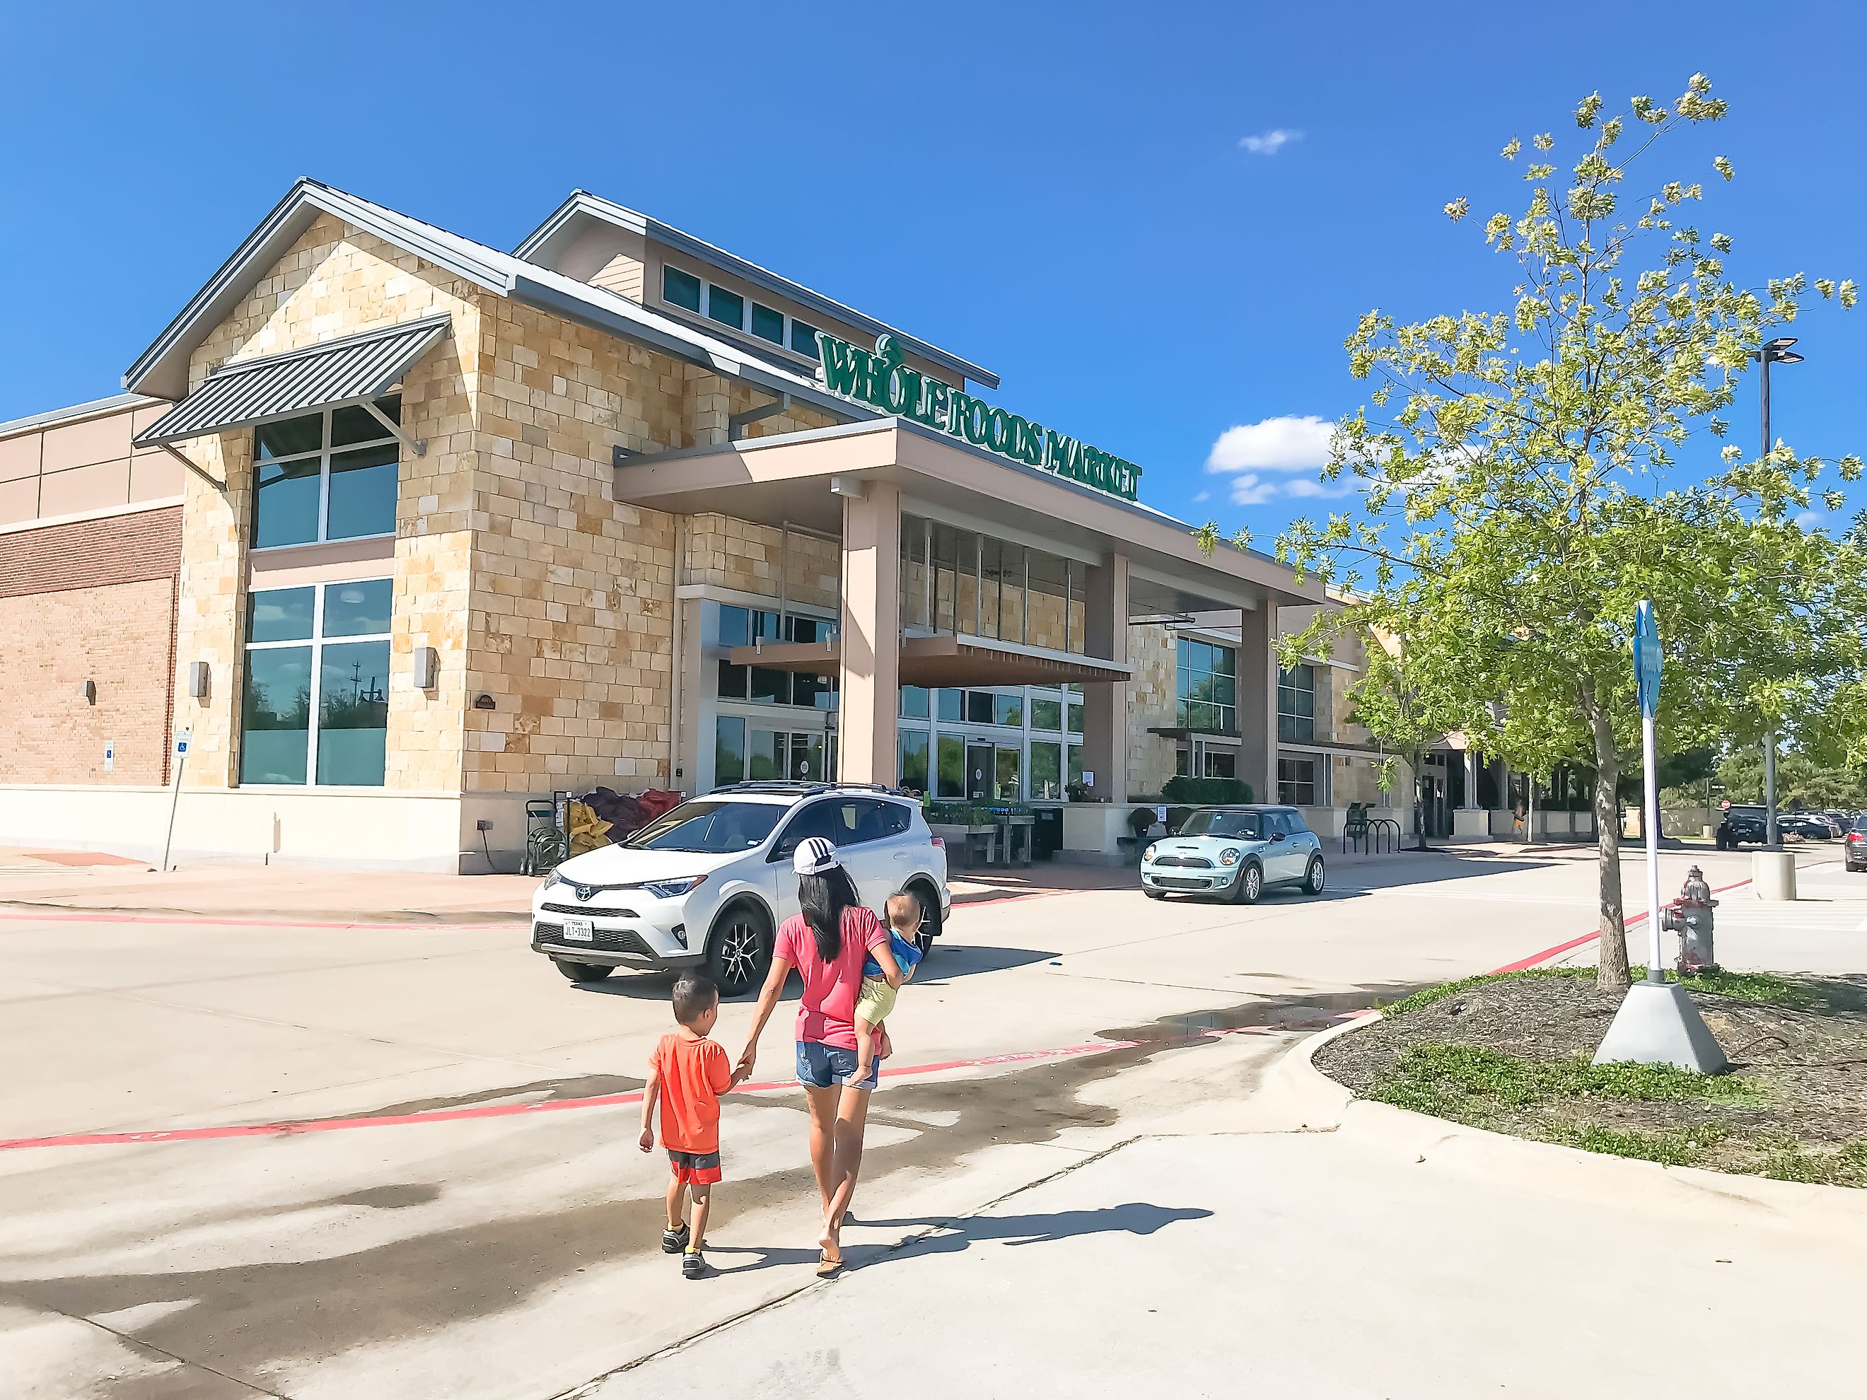
[[[1673,749],[1781,724],[1820,689],[1811,668],[1860,650],[1830,612],[1841,556],[1858,571],[1860,551],[1794,525],[1824,465],[1781,444],[1755,461],[1736,446],[1721,461],[1688,452],[1695,431],[1725,433],[1757,347],[1809,286],[1856,301],[1852,282],[1800,273],[1734,282],[1731,239],[1688,218],[1701,183],[1649,170],[1678,133],[1725,116],[1710,88],[1695,75],[1671,106],[1634,97],[1617,116],[1591,95],[1561,177],[1555,136],[1531,140],[1523,213],[1484,224],[1510,265],[1501,310],[1361,317],[1346,349],[1369,401],[1339,424],[1324,470],[1352,478],[1361,508],[1298,521],[1277,541],[1355,599],[1324,610],[1298,648],[1348,629],[1404,635],[1436,657],[1441,693],[1426,709],[1466,715],[1481,749],[1516,750],[1527,771],[1548,771],[1546,756],[1594,771],[1607,987],[1628,984],[1617,786],[1639,749],[1635,603],[1652,599],[1660,618]],[[1516,162],[1523,144],[1503,155]],[[1733,177],[1723,157],[1708,164]],[[1445,213],[1460,222],[1469,202]],[[1837,470],[1854,480],[1861,467],[1846,457]],[[1499,702],[1488,726],[1481,700]]]

